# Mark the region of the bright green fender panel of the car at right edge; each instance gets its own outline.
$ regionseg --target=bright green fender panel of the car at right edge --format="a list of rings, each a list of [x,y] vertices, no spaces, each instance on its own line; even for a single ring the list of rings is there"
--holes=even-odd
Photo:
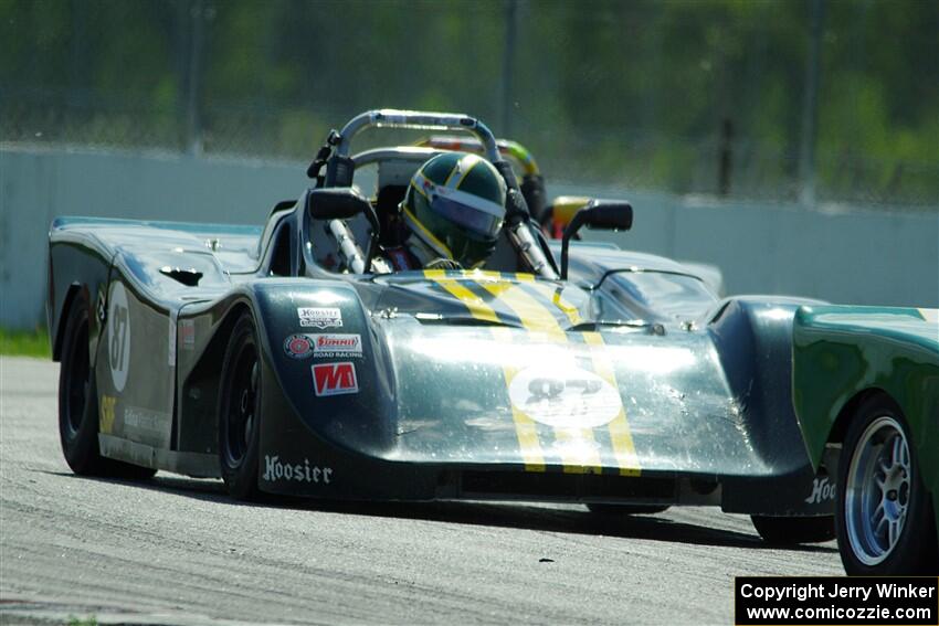
[[[795,413],[815,467],[823,461],[835,425],[850,417],[843,413],[854,399],[872,391],[889,395],[909,425],[920,475],[939,520],[939,311],[800,308],[793,329],[792,385]]]

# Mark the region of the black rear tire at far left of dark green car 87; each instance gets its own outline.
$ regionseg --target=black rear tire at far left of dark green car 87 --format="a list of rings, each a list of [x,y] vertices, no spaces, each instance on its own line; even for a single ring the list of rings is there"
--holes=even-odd
[[[88,356],[88,298],[78,293],[68,308],[59,368],[59,441],[72,471],[83,476],[146,479],[157,473],[104,458],[98,448],[98,399]]]

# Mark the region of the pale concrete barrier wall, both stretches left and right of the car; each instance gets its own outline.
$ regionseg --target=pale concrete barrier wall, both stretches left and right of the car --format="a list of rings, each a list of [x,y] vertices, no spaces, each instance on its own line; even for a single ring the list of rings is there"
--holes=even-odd
[[[66,150],[0,150],[0,326],[44,319],[46,236],[57,215],[261,224],[307,184],[305,163]],[[549,192],[626,198],[622,247],[718,265],[729,294],[939,307],[939,209],[803,211],[615,188]]]

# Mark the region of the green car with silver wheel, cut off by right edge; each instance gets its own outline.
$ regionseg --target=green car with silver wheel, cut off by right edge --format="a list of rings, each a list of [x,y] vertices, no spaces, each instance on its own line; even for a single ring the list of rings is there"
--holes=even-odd
[[[939,310],[800,308],[793,400],[853,575],[939,575]]]

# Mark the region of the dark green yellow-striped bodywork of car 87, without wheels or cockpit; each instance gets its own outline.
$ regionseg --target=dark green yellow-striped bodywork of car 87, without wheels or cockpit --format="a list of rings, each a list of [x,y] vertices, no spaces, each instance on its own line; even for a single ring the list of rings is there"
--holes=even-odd
[[[788,380],[783,357],[798,301],[721,301],[706,287],[682,300],[687,291],[676,284],[674,310],[651,315],[652,308],[635,300],[624,305],[624,287],[641,290],[630,277],[698,279],[668,259],[591,245],[572,250],[578,284],[496,272],[331,279],[244,273],[261,263],[262,232],[116,220],[53,224],[52,328],[57,328],[64,294],[76,282],[61,268],[71,268],[80,250],[97,251],[92,255],[97,276],[86,279],[93,285],[92,306],[108,311],[105,340],[94,352],[106,454],[217,475],[218,371],[205,372],[212,363],[220,365],[225,325],[241,308],[252,312],[263,337],[265,390],[272,390],[265,402],[270,397],[277,406],[265,421],[264,457],[278,459],[272,467],[293,458],[333,469],[329,485],[300,485],[265,481],[268,473],[262,467],[267,490],[456,497],[470,492],[454,487],[464,480],[462,473],[484,468],[665,481],[653,491],[642,486],[623,491],[620,485],[591,491],[589,485],[572,482],[558,487],[559,498],[580,494],[581,499],[616,500],[620,494],[633,499],[644,494],[675,501],[694,480],[697,500],[717,499],[727,510],[827,510],[827,502],[803,502],[813,478],[804,453],[796,446],[796,454],[781,454],[772,443],[796,433],[791,414],[777,410],[789,405],[788,386],[767,381]],[[202,277],[198,286],[188,286],[160,272],[166,267],[192,268]],[[123,386],[115,382],[122,349],[114,348],[109,335],[122,307],[129,328],[114,328],[112,335],[126,337],[129,344]],[[304,308],[339,309],[342,326],[302,327],[298,309]],[[652,320],[640,319],[637,311]],[[361,354],[296,359],[284,348],[294,335],[355,335]],[[758,352],[763,360],[772,352],[773,362],[779,361],[770,373],[760,371]],[[357,393],[317,396],[312,368],[319,362],[352,363]],[[545,363],[551,363],[553,375]],[[513,388],[518,375],[528,388]],[[513,393],[528,394],[530,401],[539,376],[546,379],[539,383],[545,393],[560,394],[568,403],[561,406],[579,411],[591,426],[574,427],[557,409],[541,411],[540,421],[519,411],[526,400],[514,403]],[[565,390],[557,392],[560,383]],[[574,392],[600,395],[578,403]],[[404,475],[412,485],[402,491],[399,479],[389,478],[342,487],[368,466],[379,468],[368,476]],[[542,489],[535,487],[529,496],[549,497]]]

